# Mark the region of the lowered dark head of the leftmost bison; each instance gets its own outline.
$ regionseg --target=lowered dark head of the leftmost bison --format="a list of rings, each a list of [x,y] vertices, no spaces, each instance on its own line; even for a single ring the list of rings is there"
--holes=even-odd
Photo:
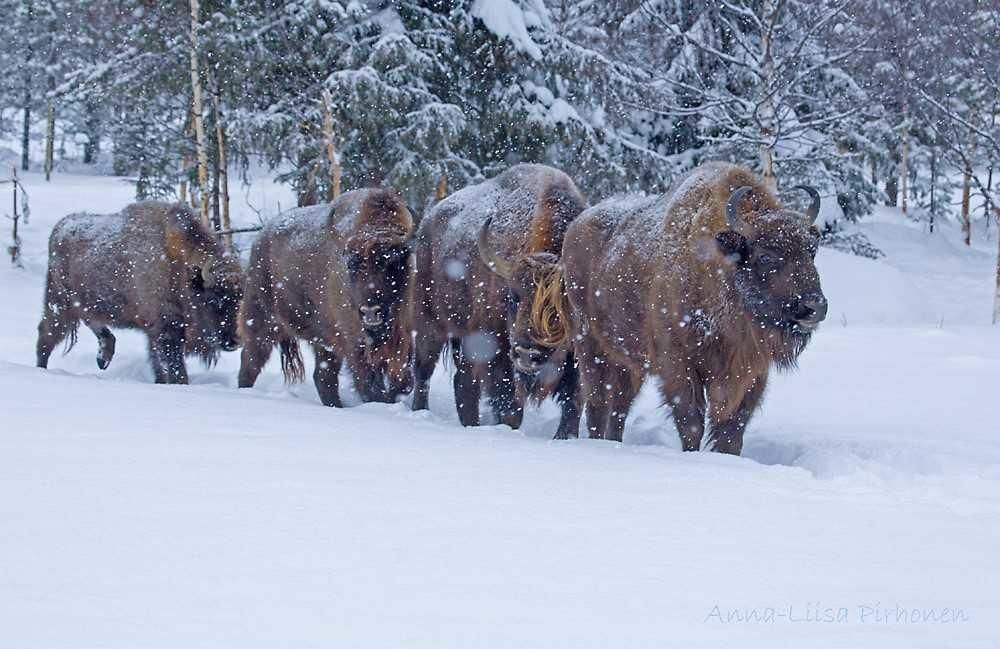
[[[192,351],[211,363],[219,350],[240,346],[237,331],[243,282],[239,262],[229,255],[207,259],[191,271]]]

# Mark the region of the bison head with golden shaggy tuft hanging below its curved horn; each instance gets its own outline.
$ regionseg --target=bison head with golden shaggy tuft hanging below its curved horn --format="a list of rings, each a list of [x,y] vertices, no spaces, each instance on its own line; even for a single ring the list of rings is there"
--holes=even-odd
[[[489,245],[492,218],[479,231],[479,255],[507,288],[507,329],[518,389],[554,388],[569,352],[569,302],[559,258],[547,252],[504,259]]]

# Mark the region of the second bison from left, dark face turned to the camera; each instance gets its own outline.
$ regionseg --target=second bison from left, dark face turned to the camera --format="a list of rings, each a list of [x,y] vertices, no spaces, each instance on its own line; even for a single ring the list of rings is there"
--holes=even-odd
[[[366,401],[407,392],[410,332],[401,316],[412,233],[410,210],[385,188],[293,209],[265,227],[250,254],[240,311],[239,386],[253,386],[275,345],[285,379],[302,380],[302,338],[313,347],[324,405],[341,406],[345,362]]]

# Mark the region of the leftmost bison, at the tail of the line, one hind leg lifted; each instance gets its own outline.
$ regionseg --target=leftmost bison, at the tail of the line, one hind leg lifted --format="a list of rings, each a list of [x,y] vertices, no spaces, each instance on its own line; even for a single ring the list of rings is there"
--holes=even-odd
[[[49,238],[37,360],[48,365],[82,320],[98,340],[97,365],[115,353],[110,327],[141,329],[157,383],[187,383],[185,354],[214,363],[239,346],[240,266],[182,204],[147,201],[118,214],[71,214]]]

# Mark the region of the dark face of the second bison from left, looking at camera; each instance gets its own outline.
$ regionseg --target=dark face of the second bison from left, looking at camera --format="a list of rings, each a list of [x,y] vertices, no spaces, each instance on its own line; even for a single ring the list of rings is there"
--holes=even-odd
[[[399,317],[410,274],[410,247],[404,236],[355,236],[347,242],[348,292],[373,347],[389,340]]]

